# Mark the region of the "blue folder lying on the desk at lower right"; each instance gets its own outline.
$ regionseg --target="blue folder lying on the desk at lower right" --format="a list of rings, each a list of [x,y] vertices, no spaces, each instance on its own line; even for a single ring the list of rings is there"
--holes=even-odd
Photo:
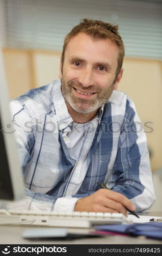
[[[162,240],[162,223],[139,223],[129,225],[102,225],[95,226],[97,230],[124,233],[130,236],[146,236],[147,238],[153,238]]]

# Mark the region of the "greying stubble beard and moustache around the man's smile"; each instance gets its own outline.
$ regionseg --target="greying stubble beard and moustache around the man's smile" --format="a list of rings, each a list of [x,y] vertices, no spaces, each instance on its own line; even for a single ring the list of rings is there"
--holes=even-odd
[[[95,91],[97,92],[97,98],[95,97],[94,99],[77,98],[73,95],[73,87],[86,91],[85,88],[81,88],[78,81],[72,80],[66,83],[63,76],[61,79],[61,89],[65,100],[75,111],[83,114],[88,114],[98,110],[103,104],[107,102],[113,92],[114,81],[111,85],[107,84],[107,88],[104,90],[100,89],[99,87],[95,87]]]

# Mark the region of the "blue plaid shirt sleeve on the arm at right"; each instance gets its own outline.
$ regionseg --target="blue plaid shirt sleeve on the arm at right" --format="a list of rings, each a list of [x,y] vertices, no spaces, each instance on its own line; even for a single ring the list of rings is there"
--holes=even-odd
[[[146,134],[131,100],[126,104],[110,186],[130,199],[138,212],[155,201]]]

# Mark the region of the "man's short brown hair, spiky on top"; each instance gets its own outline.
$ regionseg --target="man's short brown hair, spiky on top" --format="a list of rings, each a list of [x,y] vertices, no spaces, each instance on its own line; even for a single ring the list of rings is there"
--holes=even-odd
[[[121,36],[118,33],[118,25],[89,18],[81,19],[81,22],[77,26],[73,27],[73,29],[65,36],[62,51],[62,63],[64,63],[65,50],[68,42],[80,32],[86,33],[95,39],[110,39],[118,46],[118,67],[116,70],[117,78],[122,68],[124,58],[124,44]]]

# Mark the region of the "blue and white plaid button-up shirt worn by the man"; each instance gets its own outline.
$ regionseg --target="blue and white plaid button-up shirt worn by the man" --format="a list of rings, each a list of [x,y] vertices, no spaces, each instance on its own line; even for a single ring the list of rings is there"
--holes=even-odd
[[[98,123],[95,129],[88,126],[77,158],[60,80],[18,97],[11,110],[26,197],[8,203],[8,209],[73,210],[78,198],[99,189],[98,181],[129,198],[137,211],[154,202],[146,135],[123,92],[113,91],[98,111]]]

